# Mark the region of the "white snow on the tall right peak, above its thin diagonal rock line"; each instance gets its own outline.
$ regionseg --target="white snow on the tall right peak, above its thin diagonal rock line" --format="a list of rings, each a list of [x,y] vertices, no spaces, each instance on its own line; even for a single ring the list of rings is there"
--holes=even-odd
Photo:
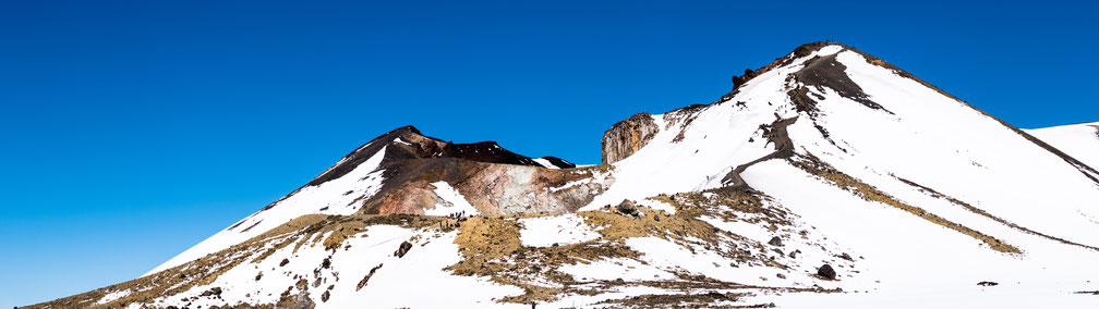
[[[798,111],[787,95],[797,85],[786,77],[802,69],[799,62],[830,55],[882,110],[822,88],[811,90],[823,98],[815,115]],[[1089,219],[1099,214],[1092,203],[1099,201],[1094,170],[1069,164],[968,104],[839,45],[756,77],[730,100],[699,112],[682,134],[675,126],[662,130],[614,164],[619,181],[586,209],[722,186],[722,176],[733,168],[776,150],[759,136],[761,125],[793,117],[798,119],[788,130],[796,152],[815,156],[886,192],[911,191],[903,179],[1023,227],[1099,245],[1091,237],[1099,234],[1099,225]],[[684,138],[675,141],[677,135]],[[751,175],[752,169],[747,171]]]

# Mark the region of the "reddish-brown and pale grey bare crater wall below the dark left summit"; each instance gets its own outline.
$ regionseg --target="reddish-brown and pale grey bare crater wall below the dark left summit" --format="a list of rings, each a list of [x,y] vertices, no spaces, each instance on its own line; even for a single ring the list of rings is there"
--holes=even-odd
[[[444,181],[481,215],[567,213],[587,205],[609,185],[604,165],[546,169],[454,158],[410,159],[385,164],[385,183],[359,202],[364,214],[423,214],[446,204],[432,183]]]

